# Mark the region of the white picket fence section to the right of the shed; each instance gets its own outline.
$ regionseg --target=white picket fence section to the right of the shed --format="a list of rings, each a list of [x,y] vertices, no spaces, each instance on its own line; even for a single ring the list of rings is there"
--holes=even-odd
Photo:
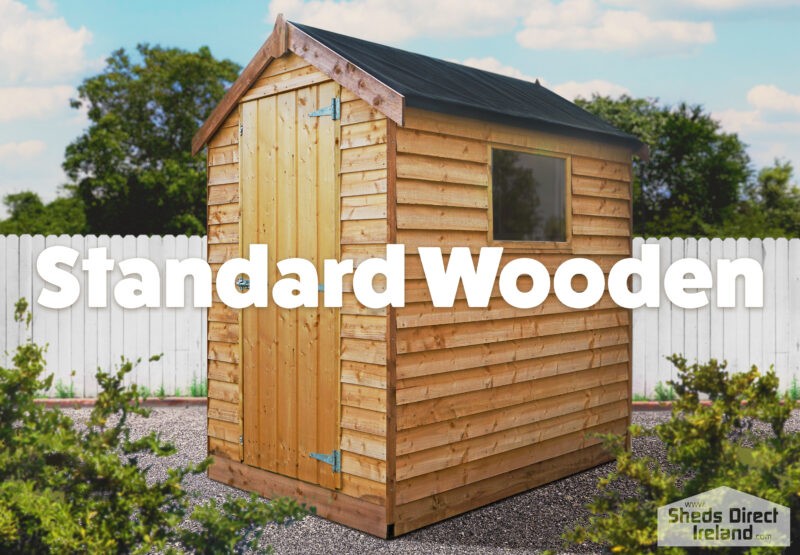
[[[727,360],[731,370],[774,365],[782,389],[800,379],[800,239],[647,239],[633,241],[633,256],[643,244],[660,245],[661,280],[674,261],[698,258],[711,268],[716,284],[720,258],[753,258],[764,269],[764,307],[744,307],[744,286],[737,283],[736,307],[709,306],[684,310],[670,303],[661,289],[659,308],[633,311],[633,391],[652,395],[659,382],[676,377],[665,357],[681,353],[687,360]]]

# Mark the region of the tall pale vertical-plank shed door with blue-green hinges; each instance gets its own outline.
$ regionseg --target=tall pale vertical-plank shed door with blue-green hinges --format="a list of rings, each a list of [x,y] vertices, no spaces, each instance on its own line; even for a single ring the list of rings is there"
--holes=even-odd
[[[269,245],[269,282],[286,258],[338,259],[338,121],[312,117],[339,95],[332,81],[241,104],[241,248]],[[288,276],[296,278],[296,275]],[[320,305],[322,294],[320,293]],[[242,313],[244,462],[340,487],[311,457],[339,449],[339,311],[268,308]]]

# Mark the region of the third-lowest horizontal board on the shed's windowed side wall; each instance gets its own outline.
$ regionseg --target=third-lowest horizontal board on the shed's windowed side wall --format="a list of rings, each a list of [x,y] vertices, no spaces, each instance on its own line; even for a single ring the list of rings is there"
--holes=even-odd
[[[592,426],[625,418],[627,414],[627,403],[621,401],[590,410],[567,413],[547,420],[538,420],[425,451],[401,455],[397,458],[397,480],[409,480],[416,476],[477,461],[527,445],[540,444]]]

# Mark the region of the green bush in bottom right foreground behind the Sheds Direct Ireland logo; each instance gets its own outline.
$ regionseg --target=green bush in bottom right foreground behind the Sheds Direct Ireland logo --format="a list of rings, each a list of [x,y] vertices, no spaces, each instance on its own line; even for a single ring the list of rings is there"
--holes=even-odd
[[[616,553],[686,553],[657,548],[658,507],[719,486],[788,506],[792,537],[800,537],[800,434],[785,431],[792,405],[781,402],[775,372],[761,374],[753,367],[728,373],[725,363],[712,359],[689,366],[677,355],[670,361],[679,373],[670,382],[676,396],[671,419],[653,430],[630,428],[634,437],[659,438],[669,464],[662,467],[651,457],[636,457],[625,448],[623,437],[605,436],[605,445],[617,457],[616,470],[600,481],[599,494],[589,505],[589,523],[565,538],[611,546]],[[701,402],[703,396],[708,404]],[[771,437],[755,435],[756,422],[767,425]],[[618,483],[633,484],[636,494],[623,495],[615,487]],[[775,552],[780,550],[748,551]]]

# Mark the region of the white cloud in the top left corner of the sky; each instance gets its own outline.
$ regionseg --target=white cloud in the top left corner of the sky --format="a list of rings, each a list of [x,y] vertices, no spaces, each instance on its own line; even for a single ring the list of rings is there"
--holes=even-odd
[[[0,79],[5,84],[58,83],[86,68],[85,28],[33,12],[17,0],[0,0]]]

